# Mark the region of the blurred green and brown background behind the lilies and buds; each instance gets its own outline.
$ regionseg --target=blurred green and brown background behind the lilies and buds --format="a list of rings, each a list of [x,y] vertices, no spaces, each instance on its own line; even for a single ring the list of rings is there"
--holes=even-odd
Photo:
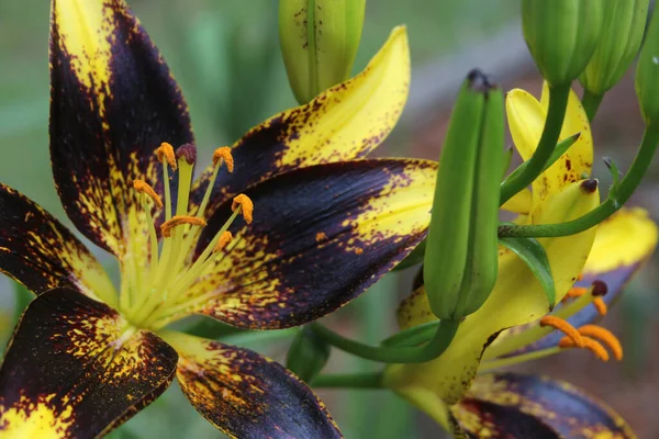
[[[279,50],[277,1],[133,0],[130,4],[183,90],[202,159],[209,159],[215,147],[233,143],[267,116],[295,104]],[[19,189],[70,224],[59,204],[49,169],[48,16],[49,5],[45,0],[0,0],[0,181]],[[453,76],[457,75],[459,80],[469,67],[507,63],[510,65],[503,66],[507,69],[498,68],[500,74],[505,74],[501,78],[504,87],[515,85],[537,92],[539,77],[528,59],[520,60],[516,55],[511,55],[514,63],[520,63],[517,66],[499,57],[496,50],[483,48],[485,42],[502,35],[498,46],[501,50],[522,47],[517,22],[517,0],[409,0],[405,3],[369,0],[354,71],[366,65],[394,25],[406,24],[413,72],[422,72],[414,76],[413,97],[403,122],[384,150],[436,158],[453,98],[445,89],[455,90],[450,88]],[[506,36],[511,30],[512,40]],[[601,148],[597,154],[614,156],[623,169],[633,158],[634,145],[643,130],[630,83],[626,78],[617,88],[618,98],[605,99],[597,121],[603,128],[597,131],[595,126],[594,131],[595,144]],[[426,93],[426,90],[429,91]],[[415,95],[423,99],[415,99]],[[417,114],[423,114],[420,119],[423,123],[418,122]],[[604,122],[606,117],[613,122]],[[603,175],[605,172],[600,173]],[[652,209],[656,216],[655,185],[656,180],[649,180],[636,201]],[[652,349],[659,347],[652,337],[658,308],[652,272],[647,270],[640,277],[612,317],[627,349],[624,365],[607,364],[611,369],[604,372],[603,364],[584,360],[583,352],[570,353],[567,360],[561,357],[561,360],[550,359],[536,363],[537,367],[529,365],[529,370],[551,371],[607,399],[632,421],[640,437],[659,437],[657,419],[651,413],[644,415],[647,410],[643,412],[643,403],[638,401],[643,395],[638,396],[637,392],[644,382],[654,383],[655,387],[649,389],[659,387],[659,368],[652,365],[658,363],[654,361],[657,357],[654,352],[659,351]],[[407,284],[401,286],[400,280],[387,278],[331,320],[340,322],[356,338],[376,342],[394,330],[394,309],[399,297],[407,291]],[[3,290],[0,304],[4,309],[2,322],[7,338],[14,319],[12,285],[0,281],[0,288]],[[621,314],[625,316],[624,325]],[[287,342],[290,342],[287,335],[290,333],[275,334],[279,340],[275,344],[272,340],[260,345],[245,339],[233,341],[282,360]],[[570,369],[566,370],[565,364],[570,364]],[[377,368],[347,356],[335,356],[330,364],[333,371],[373,367]],[[608,382],[618,380],[618,386],[619,380],[624,379],[626,391],[602,386],[599,378]],[[436,438],[440,435],[427,418],[391,393],[322,391],[320,394],[347,438]],[[113,437],[222,436],[197,415],[174,385],[165,397],[121,427]]]

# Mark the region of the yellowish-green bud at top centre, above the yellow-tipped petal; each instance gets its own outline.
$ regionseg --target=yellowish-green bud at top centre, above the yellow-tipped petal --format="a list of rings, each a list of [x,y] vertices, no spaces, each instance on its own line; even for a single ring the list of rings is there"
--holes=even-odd
[[[366,0],[280,0],[279,40],[301,104],[350,77]]]

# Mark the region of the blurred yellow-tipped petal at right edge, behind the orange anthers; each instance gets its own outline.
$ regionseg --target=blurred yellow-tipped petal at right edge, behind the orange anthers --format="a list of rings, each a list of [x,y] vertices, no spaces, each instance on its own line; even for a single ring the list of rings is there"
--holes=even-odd
[[[593,248],[583,267],[583,279],[576,285],[590,286],[595,280],[604,282],[607,293],[602,299],[606,305],[612,305],[619,299],[629,279],[657,248],[657,224],[644,209],[623,207],[600,224],[596,230]],[[568,322],[574,327],[581,327],[601,317],[594,306],[587,306],[568,318]],[[562,337],[563,334],[551,333],[511,354],[558,346]]]

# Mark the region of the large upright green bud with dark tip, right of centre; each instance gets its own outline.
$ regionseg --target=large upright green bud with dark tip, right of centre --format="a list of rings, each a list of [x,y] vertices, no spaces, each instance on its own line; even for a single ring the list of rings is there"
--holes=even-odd
[[[496,282],[503,108],[501,89],[478,70],[469,74],[439,158],[424,258],[425,290],[440,319],[473,313]]]

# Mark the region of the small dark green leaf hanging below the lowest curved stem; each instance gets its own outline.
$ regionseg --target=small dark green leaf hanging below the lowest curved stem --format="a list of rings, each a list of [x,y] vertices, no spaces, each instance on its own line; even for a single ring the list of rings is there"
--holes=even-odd
[[[330,345],[308,326],[293,339],[286,356],[286,367],[308,383],[317,375],[330,359]]]

